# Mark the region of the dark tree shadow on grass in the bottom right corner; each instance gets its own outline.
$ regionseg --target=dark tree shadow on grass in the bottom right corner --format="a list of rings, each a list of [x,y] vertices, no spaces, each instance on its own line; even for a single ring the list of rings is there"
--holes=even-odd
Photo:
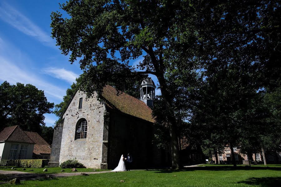
[[[263,187],[276,187],[281,186],[281,177],[252,177],[243,181],[239,181],[237,183],[243,183],[246,185],[258,185]]]

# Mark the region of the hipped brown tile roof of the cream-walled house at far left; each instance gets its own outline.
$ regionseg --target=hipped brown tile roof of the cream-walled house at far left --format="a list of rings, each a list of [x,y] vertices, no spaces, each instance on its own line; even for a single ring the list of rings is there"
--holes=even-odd
[[[34,143],[18,125],[4,128],[0,132],[0,141]]]

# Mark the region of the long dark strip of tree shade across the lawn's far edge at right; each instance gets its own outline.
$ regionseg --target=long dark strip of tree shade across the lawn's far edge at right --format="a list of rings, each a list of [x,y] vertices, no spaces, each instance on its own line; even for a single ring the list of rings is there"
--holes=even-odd
[[[173,173],[180,171],[195,171],[195,170],[203,170],[203,171],[231,171],[231,170],[275,170],[281,171],[280,167],[245,167],[245,166],[212,166],[212,167],[188,167],[180,170],[155,170],[156,173]]]

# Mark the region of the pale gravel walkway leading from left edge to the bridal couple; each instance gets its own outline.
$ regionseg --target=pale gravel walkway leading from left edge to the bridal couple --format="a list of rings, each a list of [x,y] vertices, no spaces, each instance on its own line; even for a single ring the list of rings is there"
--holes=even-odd
[[[184,167],[197,167],[200,164],[197,165],[187,165]],[[14,178],[18,178],[19,180],[37,180],[40,178],[44,178],[46,175],[50,175],[52,177],[69,177],[69,176],[77,176],[81,175],[81,173],[86,174],[98,174],[98,173],[109,173],[111,171],[92,171],[92,172],[72,172],[72,173],[56,173],[56,174],[46,174],[46,173],[28,173],[23,171],[4,171],[0,170],[0,175],[5,175],[7,177],[6,181],[12,180]],[[3,183],[3,181],[0,181],[0,184]]]

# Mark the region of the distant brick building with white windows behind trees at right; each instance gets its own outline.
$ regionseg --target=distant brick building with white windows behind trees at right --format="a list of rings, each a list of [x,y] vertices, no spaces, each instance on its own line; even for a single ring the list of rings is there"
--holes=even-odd
[[[249,159],[252,161],[264,161],[262,153],[255,153],[252,155],[252,158],[248,158],[247,155],[243,155],[239,152],[239,149],[236,147],[233,148],[234,150],[234,157],[237,163],[242,164],[243,161],[248,161]],[[281,163],[281,152],[273,152],[270,151],[268,154],[265,154],[266,163],[274,164],[274,163]],[[224,164],[231,164],[232,156],[230,147],[225,147],[224,152],[218,155],[219,163]],[[213,155],[213,161],[216,161],[215,156]]]

